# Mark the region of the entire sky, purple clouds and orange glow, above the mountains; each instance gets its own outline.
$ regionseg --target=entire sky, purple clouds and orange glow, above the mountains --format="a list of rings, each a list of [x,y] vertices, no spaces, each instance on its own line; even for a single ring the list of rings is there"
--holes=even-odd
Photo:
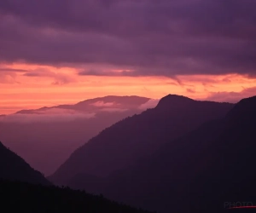
[[[105,95],[256,95],[255,0],[1,0],[0,114]]]

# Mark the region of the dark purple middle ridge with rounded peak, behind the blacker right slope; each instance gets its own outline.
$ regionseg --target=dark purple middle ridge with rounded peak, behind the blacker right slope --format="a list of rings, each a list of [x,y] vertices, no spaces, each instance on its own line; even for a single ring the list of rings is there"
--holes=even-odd
[[[96,135],[77,149],[49,180],[56,184],[72,181],[76,187],[86,184],[90,187],[91,183],[99,183],[98,178],[154,153],[166,141],[195,130],[208,120],[224,117],[232,107],[229,103],[167,95],[154,109],[125,118]]]

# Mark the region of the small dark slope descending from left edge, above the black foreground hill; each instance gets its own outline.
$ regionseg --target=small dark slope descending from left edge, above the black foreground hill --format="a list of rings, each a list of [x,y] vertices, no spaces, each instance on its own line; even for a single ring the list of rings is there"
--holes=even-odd
[[[49,185],[49,181],[0,142],[0,178]]]

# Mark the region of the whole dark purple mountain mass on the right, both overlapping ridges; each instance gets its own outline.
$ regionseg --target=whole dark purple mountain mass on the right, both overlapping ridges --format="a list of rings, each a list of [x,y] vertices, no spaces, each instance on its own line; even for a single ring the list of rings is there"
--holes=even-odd
[[[230,105],[168,95],[102,131],[49,180],[148,210],[230,212],[255,201],[255,109],[256,96]]]

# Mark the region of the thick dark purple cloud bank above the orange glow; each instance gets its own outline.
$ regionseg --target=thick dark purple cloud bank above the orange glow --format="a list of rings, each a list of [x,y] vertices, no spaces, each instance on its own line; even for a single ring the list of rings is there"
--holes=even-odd
[[[2,0],[0,60],[254,76],[255,8],[254,0]]]

